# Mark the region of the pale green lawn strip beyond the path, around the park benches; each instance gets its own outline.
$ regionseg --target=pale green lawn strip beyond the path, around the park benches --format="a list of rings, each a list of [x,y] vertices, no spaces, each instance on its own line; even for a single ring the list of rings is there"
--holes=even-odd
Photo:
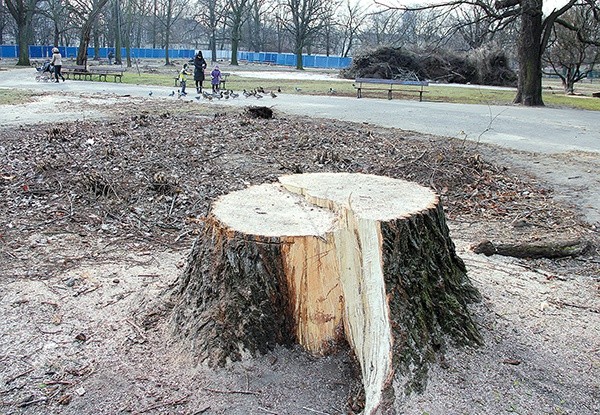
[[[173,69],[172,74],[165,73],[140,73],[135,69],[125,72],[123,76],[124,83],[139,85],[160,85],[174,86],[174,78],[177,76],[177,70]],[[193,85],[193,77],[188,82],[188,88]],[[204,87],[210,85],[210,78],[204,82]],[[308,94],[308,95],[333,95],[333,96],[356,96],[353,80],[308,80],[308,79],[265,79],[251,78],[239,75],[230,75],[227,89],[236,92],[243,90],[253,91],[257,89],[264,90],[266,93],[281,91],[286,94]],[[600,89],[600,88],[599,88]],[[466,87],[464,85],[436,85],[430,84],[426,87],[427,93],[424,94],[424,101],[433,102],[451,102],[457,104],[483,104],[483,105],[512,105],[515,98],[516,89],[491,89],[477,88],[475,86]],[[591,98],[589,95],[569,96],[558,92],[556,87],[546,88],[543,93],[544,103],[551,107],[565,107],[585,109],[590,111],[600,111],[600,99]],[[385,98],[385,91],[371,91],[363,94],[365,97]],[[394,93],[395,98],[417,99],[418,94]]]

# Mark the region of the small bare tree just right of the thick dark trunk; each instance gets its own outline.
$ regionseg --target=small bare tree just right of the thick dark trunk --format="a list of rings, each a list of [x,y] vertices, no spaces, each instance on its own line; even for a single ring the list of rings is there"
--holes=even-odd
[[[575,84],[585,79],[600,62],[600,22],[593,10],[573,7],[557,20],[544,63],[557,75],[566,94],[575,92]]]

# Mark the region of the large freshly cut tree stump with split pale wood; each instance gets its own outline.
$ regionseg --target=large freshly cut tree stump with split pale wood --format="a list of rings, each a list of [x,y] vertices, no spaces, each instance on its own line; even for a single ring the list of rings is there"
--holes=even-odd
[[[397,396],[424,385],[446,337],[480,342],[467,310],[479,294],[441,203],[366,174],[279,181],[214,203],[178,287],[174,331],[209,365],[276,344],[324,355],[347,342],[364,413],[393,413]]]

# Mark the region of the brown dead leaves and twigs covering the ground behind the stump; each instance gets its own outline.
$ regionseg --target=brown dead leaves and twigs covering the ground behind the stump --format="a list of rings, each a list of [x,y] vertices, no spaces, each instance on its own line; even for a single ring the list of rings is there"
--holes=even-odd
[[[0,214],[32,229],[189,244],[216,197],[297,172],[402,178],[442,195],[450,218],[573,229],[550,191],[485,161],[476,144],[307,118],[173,115],[0,131]],[[557,211],[560,211],[557,214]]]

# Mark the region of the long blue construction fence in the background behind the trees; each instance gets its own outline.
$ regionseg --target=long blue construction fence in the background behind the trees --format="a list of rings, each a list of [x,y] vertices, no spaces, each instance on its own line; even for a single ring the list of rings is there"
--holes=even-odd
[[[59,46],[60,54],[65,58],[75,58],[77,56],[76,46]],[[114,48],[100,48],[99,58],[108,59],[108,53]],[[94,58],[94,48],[88,48],[88,58]],[[212,59],[211,51],[202,51],[206,59]],[[169,58],[171,59],[193,59],[196,51],[194,49],[169,49]],[[19,47],[17,45],[0,45],[0,58],[17,58],[19,56]],[[52,56],[52,46],[29,46],[29,57],[31,59],[43,59]],[[126,56],[125,48],[121,49],[121,56]],[[131,57],[136,59],[164,59],[166,56],[164,49],[152,48],[131,48]],[[231,59],[231,51],[217,51],[217,59]],[[296,66],[296,55],[293,53],[270,53],[270,52],[238,52],[238,60],[269,63],[272,65]],[[305,68],[348,68],[352,64],[352,58],[341,56],[325,55],[303,55],[302,65]]]

